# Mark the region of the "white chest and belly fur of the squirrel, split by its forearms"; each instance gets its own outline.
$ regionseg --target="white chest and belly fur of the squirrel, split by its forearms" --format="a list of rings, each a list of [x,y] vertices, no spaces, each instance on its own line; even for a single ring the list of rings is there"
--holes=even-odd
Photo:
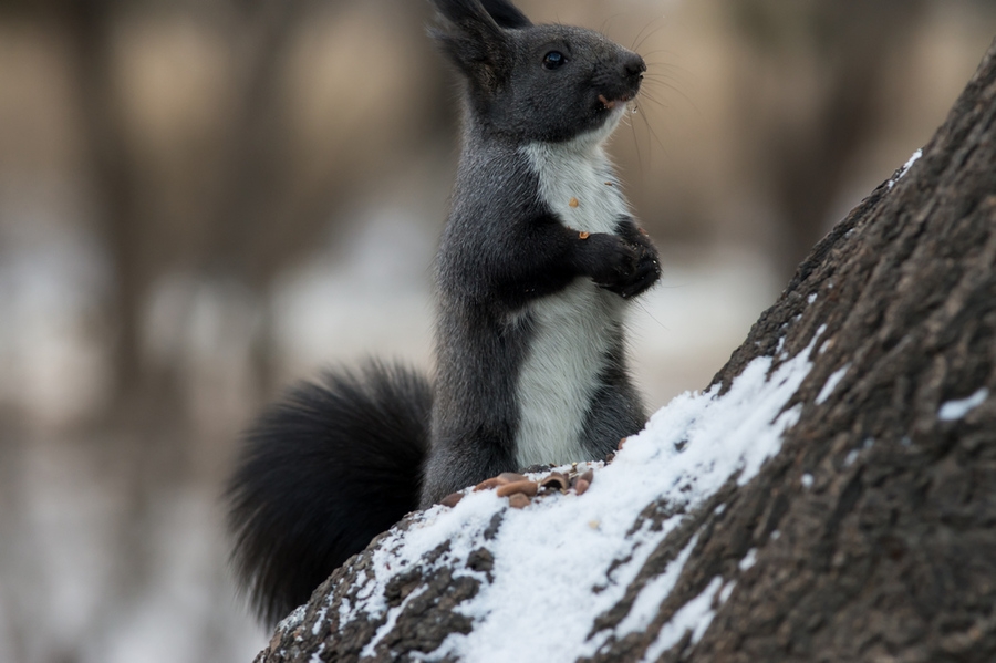
[[[533,144],[523,153],[539,175],[540,196],[568,227],[614,232],[620,216],[629,214],[601,146]],[[529,305],[535,333],[516,389],[520,467],[585,457],[584,417],[624,305],[590,279]]]

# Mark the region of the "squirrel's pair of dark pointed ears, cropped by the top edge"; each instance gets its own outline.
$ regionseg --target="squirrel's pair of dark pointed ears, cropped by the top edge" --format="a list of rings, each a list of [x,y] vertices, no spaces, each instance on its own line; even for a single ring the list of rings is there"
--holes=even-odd
[[[443,24],[429,31],[443,52],[480,91],[500,84],[511,69],[506,28],[529,19],[507,0],[433,0]]]

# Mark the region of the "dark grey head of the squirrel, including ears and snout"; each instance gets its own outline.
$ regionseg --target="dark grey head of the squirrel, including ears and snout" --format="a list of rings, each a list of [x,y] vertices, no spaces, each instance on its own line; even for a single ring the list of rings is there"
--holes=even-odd
[[[467,83],[471,121],[516,142],[563,142],[615,127],[643,59],[592,30],[533,25],[507,0],[433,0],[432,32]]]

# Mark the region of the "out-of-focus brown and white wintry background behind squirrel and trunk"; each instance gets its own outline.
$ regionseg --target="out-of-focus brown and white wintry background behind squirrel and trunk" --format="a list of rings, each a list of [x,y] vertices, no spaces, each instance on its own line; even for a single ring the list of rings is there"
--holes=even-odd
[[[969,0],[521,0],[649,65],[612,152],[702,389],[996,34]],[[0,661],[250,661],[219,496],[252,414],[429,366],[457,89],[424,0],[0,2]]]

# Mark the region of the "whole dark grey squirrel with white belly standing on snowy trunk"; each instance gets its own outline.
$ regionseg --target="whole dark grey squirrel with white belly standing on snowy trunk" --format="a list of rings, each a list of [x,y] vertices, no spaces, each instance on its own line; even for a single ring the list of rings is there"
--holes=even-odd
[[[229,527],[268,623],[405,514],[502,472],[603,458],[646,419],[623,318],[661,270],[603,149],[643,59],[507,0],[433,4],[465,106],[435,375],[326,372],[249,429]]]

